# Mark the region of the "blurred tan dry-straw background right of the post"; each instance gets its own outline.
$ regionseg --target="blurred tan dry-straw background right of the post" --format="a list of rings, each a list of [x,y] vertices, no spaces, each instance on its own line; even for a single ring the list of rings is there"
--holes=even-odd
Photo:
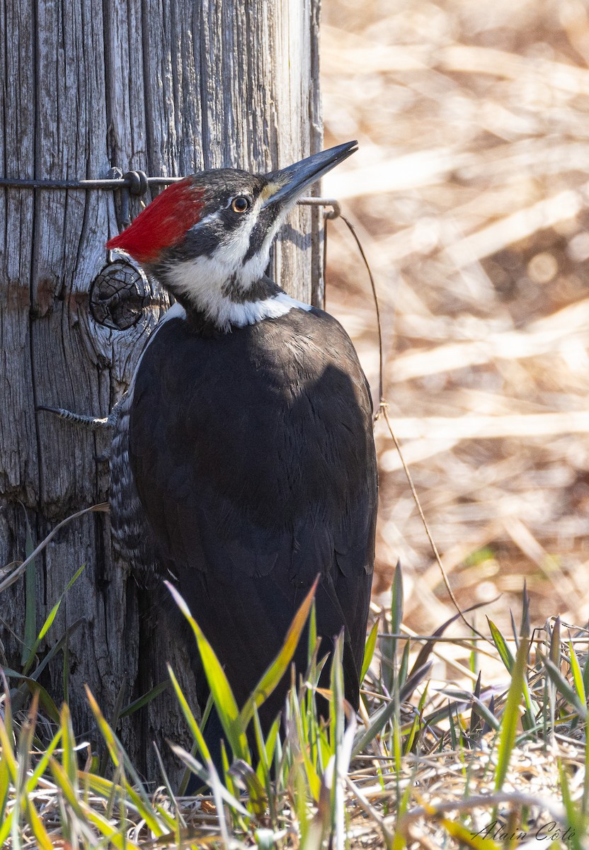
[[[462,606],[589,618],[589,4],[324,0],[324,181],[376,277],[384,395]],[[370,283],[328,227],[327,309],[377,398]],[[386,426],[375,593],[405,622],[456,613]],[[456,626],[464,633],[465,626]]]

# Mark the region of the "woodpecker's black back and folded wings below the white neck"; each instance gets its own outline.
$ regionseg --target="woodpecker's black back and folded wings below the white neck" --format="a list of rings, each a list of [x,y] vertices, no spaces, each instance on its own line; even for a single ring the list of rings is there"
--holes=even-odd
[[[137,376],[130,449],[161,555],[234,687],[247,695],[318,574],[318,632],[345,627],[357,680],[377,478],[370,396],[337,322],[294,310],[218,339],[170,322]]]

